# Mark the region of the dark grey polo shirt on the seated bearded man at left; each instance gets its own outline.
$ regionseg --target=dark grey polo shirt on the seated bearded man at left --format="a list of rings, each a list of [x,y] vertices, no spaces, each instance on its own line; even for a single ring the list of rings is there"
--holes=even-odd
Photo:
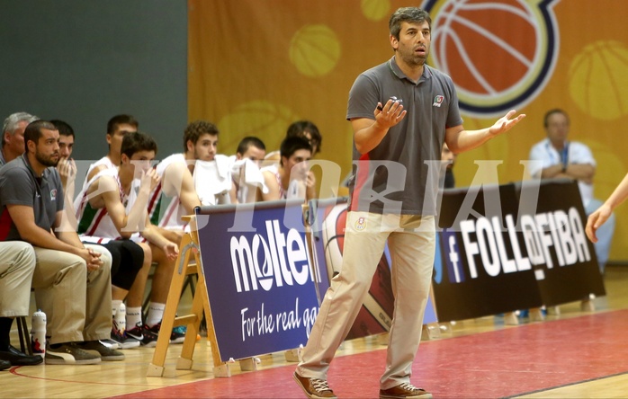
[[[0,240],[21,240],[6,205],[31,207],[35,224],[49,231],[57,212],[63,210],[63,186],[57,169],[49,167],[38,177],[25,154],[0,168]]]

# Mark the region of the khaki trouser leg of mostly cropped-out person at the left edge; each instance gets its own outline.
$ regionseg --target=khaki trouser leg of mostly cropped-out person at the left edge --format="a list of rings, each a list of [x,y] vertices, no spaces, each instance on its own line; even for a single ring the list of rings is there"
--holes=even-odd
[[[0,242],[0,317],[29,314],[35,252],[23,241]]]

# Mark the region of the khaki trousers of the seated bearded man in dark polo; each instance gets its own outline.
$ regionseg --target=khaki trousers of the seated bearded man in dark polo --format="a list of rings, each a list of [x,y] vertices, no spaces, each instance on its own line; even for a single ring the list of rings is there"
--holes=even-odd
[[[101,253],[103,266],[87,271],[80,256],[34,247],[32,277],[37,306],[46,314],[49,343],[97,341],[112,332],[112,255],[102,245],[85,244]]]

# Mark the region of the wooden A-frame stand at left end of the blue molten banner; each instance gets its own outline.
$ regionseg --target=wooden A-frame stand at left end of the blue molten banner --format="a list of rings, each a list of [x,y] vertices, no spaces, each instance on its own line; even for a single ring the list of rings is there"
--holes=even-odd
[[[162,377],[164,375],[164,364],[166,362],[168,344],[170,343],[170,334],[173,328],[179,325],[185,325],[187,331],[185,332],[181,356],[176,363],[176,369],[189,370],[192,368],[194,345],[196,344],[196,337],[201,326],[203,312],[207,320],[207,338],[211,342],[214,376],[230,377],[229,365],[220,361],[220,351],[216,343],[216,333],[213,329],[210,302],[207,296],[207,288],[202,271],[201,253],[199,252],[196,217],[185,218],[190,220],[192,231],[184,234],[179,246],[179,255],[176,259],[175,271],[173,273],[172,282],[170,283],[164,318],[161,323],[161,329],[159,330],[159,336],[157,337],[157,346],[153,354],[153,361],[148,366],[147,377]],[[184,288],[185,279],[187,276],[194,274],[198,277],[198,283],[192,301],[192,313],[190,315],[176,316],[176,310],[179,306],[181,290]]]

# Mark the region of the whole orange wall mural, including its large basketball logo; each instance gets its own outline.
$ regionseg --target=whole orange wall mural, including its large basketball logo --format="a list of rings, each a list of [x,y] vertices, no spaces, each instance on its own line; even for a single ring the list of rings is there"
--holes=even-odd
[[[417,5],[434,22],[428,63],[453,77],[465,129],[488,127],[510,109],[527,115],[516,129],[458,157],[458,186],[473,182],[478,160],[503,161],[499,183],[527,177],[520,161],[545,136],[543,114],[557,107],[570,113],[571,139],[596,157],[597,199],[628,171],[625,0],[187,4],[188,120],[217,123],[222,154],[235,154],[247,135],[278,149],[290,123],[311,120],[323,136],[316,158],[350,173],[347,94],[357,75],[393,56],[390,13]],[[628,235],[628,207],[617,208],[616,217],[615,236]],[[628,260],[628,246],[615,240],[611,259]]]

